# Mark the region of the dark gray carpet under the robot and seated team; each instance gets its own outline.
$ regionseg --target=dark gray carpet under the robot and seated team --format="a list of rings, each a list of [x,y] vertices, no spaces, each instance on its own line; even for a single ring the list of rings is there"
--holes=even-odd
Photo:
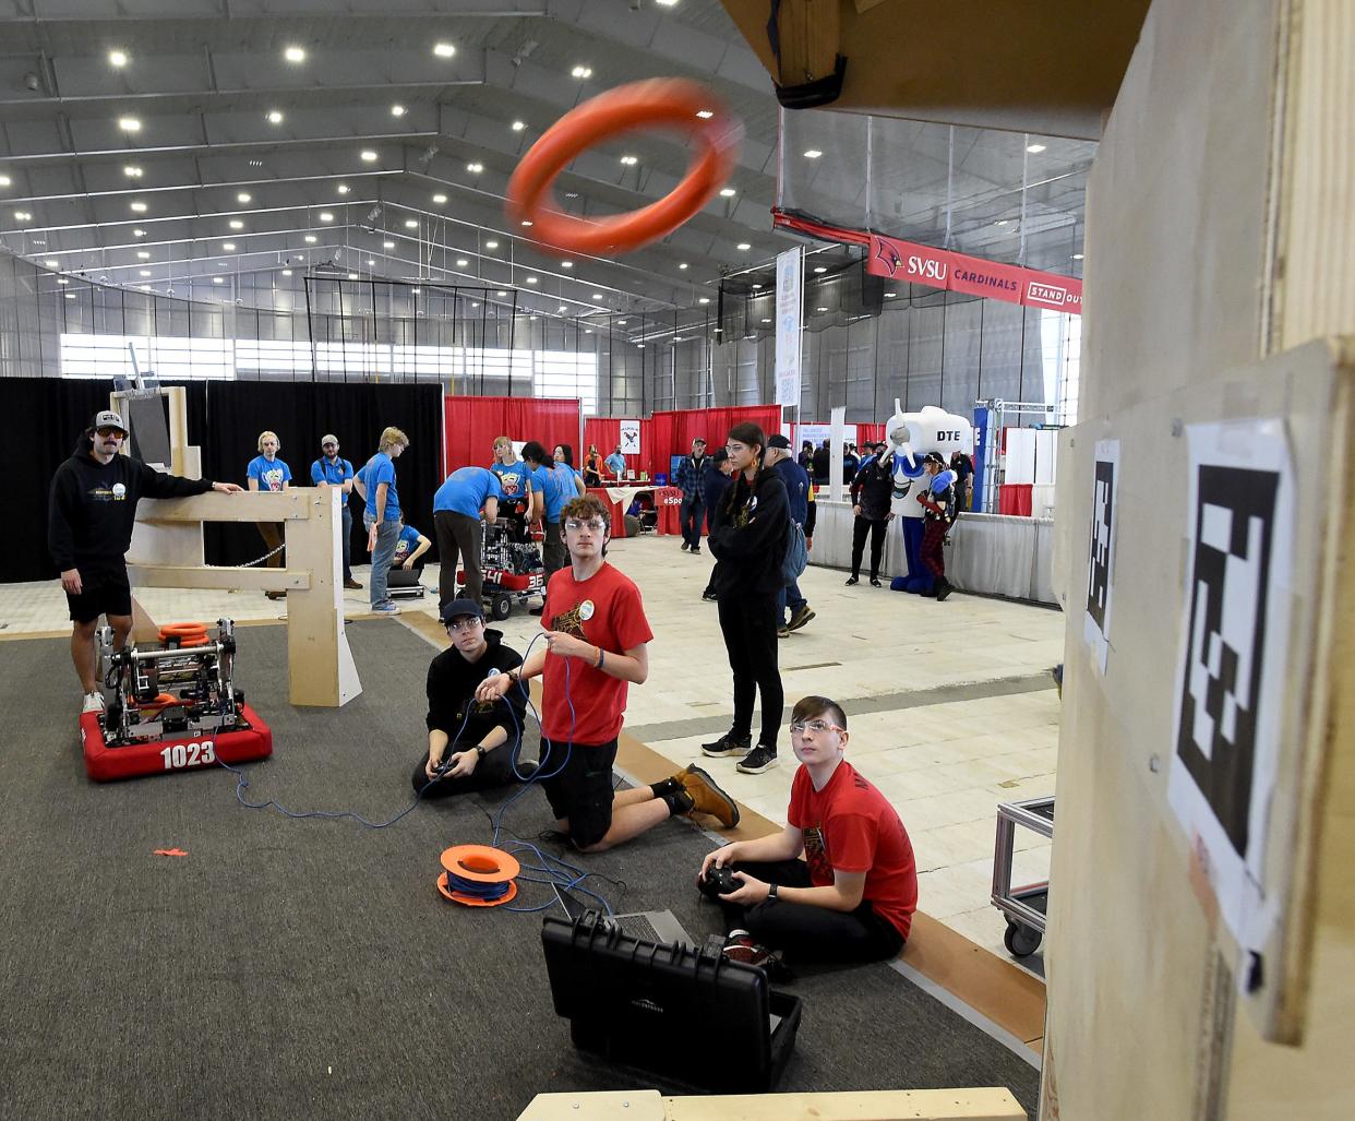
[[[348,633],[363,694],[329,712],[287,704],[282,628],[238,632],[237,683],[275,737],[244,767],[251,800],[371,820],[412,800],[432,648],[390,621]],[[221,770],[93,783],[76,693],[65,641],[0,644],[0,1117],[496,1121],[542,1091],[680,1090],[573,1049],[541,915],[438,895],[439,853],[488,843],[504,793],[366,830],[245,809]],[[545,796],[507,824],[535,840]],[[593,881],[617,911],[669,908],[699,941],[720,926],[692,886],[709,844],[671,821],[596,857],[545,847],[621,881]],[[885,965],[789,991],[805,1015],[782,1090],[1007,1086],[1034,1113],[1028,1064]],[[710,1042],[737,1051],[715,1023]]]

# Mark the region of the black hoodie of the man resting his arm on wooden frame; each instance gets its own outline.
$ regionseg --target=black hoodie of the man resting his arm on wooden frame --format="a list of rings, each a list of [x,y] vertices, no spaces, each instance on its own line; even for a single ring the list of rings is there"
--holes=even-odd
[[[88,579],[115,572],[123,564],[137,521],[137,502],[205,495],[209,478],[180,478],[146,466],[130,455],[100,464],[89,451],[76,451],[51,476],[47,492],[47,549],[57,568],[79,568]]]

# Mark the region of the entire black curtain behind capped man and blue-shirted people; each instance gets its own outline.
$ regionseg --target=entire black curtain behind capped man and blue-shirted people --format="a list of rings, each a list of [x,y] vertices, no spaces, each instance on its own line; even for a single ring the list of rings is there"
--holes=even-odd
[[[164,382],[169,385],[171,382]],[[402,428],[409,450],[396,462],[400,504],[406,522],[434,541],[432,495],[442,485],[442,388],[439,385],[343,385],[322,382],[175,382],[187,389],[188,442],[202,449],[206,478],[245,485],[245,466],[257,454],[259,432],[282,439],[282,458],[294,485],[310,485],[320,436],[333,432],[340,454],[360,468],[377,450],[381,430]],[[75,450],[99,411],[108,408],[112,382],[84,378],[0,378],[0,415],[18,431],[19,454],[7,472],[11,525],[19,548],[0,550],[0,583],[51,580],[47,554],[47,489],[51,476]],[[367,561],[362,507],[354,511],[354,564]],[[243,564],[264,553],[248,525],[209,523],[209,564]]]

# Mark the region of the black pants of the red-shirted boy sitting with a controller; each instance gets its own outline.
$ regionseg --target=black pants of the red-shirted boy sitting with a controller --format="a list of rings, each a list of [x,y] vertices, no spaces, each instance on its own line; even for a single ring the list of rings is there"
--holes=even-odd
[[[804,861],[749,861],[730,865],[764,884],[812,888]],[[855,911],[829,911],[783,899],[752,907],[720,901],[729,930],[747,930],[767,949],[782,950],[791,961],[883,961],[897,957],[904,937],[892,922],[875,914],[866,900]]]

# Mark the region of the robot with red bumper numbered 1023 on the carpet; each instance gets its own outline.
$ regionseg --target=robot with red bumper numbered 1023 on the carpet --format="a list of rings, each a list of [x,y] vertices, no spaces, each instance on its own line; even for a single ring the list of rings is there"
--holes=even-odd
[[[111,690],[103,712],[80,717],[85,771],[98,782],[243,763],[272,754],[272,732],[234,687],[234,626],[217,621],[161,628],[159,645],[112,649],[99,632]]]

